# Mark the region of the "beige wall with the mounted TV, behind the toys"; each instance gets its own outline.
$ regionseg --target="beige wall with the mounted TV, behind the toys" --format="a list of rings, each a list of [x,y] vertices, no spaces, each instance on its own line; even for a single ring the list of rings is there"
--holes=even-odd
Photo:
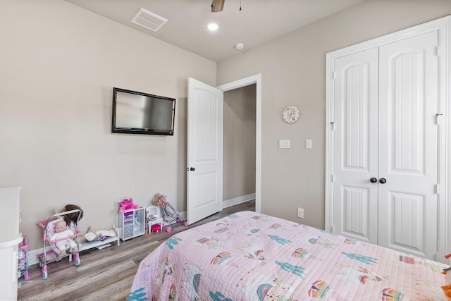
[[[216,63],[66,1],[0,6],[0,187],[22,187],[30,249],[65,204],[82,231],[117,225],[123,197],[185,211],[187,78],[216,85]],[[176,98],[175,135],[111,134],[113,87]]]

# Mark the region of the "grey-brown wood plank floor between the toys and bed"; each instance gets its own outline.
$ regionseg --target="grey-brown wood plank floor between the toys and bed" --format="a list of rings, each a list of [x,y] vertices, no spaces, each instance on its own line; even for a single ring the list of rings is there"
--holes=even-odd
[[[243,210],[255,211],[255,202],[228,207],[187,228]],[[39,265],[30,266],[31,282],[18,288],[18,300],[125,300],[141,260],[161,242],[187,228],[177,224],[173,225],[171,233],[160,231],[126,240],[119,247],[113,245],[103,250],[81,252],[80,266],[68,262],[67,257],[52,262],[47,265],[48,278],[45,281],[41,278]]]

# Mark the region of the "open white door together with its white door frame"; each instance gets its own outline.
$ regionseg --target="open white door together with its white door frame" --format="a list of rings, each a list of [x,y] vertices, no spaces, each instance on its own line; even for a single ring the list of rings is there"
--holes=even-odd
[[[194,223],[223,207],[223,94],[255,86],[255,211],[261,190],[261,74],[219,87],[188,78],[187,221]]]

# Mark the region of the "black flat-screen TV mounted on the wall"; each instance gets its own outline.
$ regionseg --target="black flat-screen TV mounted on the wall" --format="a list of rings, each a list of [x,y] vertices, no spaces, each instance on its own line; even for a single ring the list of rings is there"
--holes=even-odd
[[[113,87],[111,133],[174,135],[175,99]]]

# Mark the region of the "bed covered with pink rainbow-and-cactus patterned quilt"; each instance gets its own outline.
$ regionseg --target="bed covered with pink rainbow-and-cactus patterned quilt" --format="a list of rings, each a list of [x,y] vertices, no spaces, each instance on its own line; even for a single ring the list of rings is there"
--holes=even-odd
[[[241,211],[162,243],[142,260],[128,300],[447,300],[448,267]]]

